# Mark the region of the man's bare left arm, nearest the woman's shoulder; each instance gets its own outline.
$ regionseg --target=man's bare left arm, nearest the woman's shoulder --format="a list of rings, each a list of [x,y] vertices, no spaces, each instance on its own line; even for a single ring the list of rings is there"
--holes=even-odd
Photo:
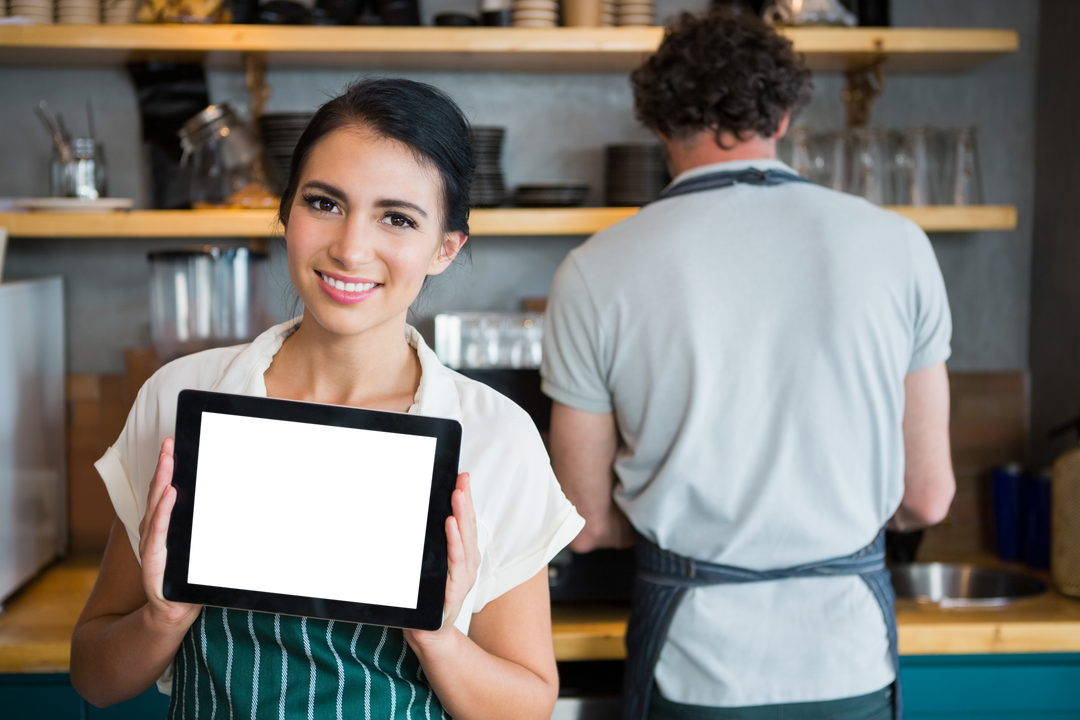
[[[619,431],[610,412],[575,410],[562,403],[551,408],[551,465],[563,492],[585,518],[570,543],[575,553],[600,547],[630,547],[630,520],[611,498]]]

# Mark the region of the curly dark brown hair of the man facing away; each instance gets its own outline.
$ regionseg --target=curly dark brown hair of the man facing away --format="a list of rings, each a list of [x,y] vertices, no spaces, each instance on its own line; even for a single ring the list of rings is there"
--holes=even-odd
[[[708,128],[720,147],[724,133],[772,137],[813,89],[791,41],[738,8],[678,15],[630,82],[646,127],[672,139]]]

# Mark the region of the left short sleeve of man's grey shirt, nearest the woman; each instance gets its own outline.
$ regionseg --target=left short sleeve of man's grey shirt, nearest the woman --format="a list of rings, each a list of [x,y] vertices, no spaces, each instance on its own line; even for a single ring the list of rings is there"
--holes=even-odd
[[[555,272],[544,313],[543,393],[577,410],[610,412],[603,340],[596,304],[571,253]]]

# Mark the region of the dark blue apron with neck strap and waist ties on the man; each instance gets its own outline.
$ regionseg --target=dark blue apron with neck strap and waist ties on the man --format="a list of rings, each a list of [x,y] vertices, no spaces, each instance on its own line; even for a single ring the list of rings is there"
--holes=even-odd
[[[809,180],[784,171],[742,171],[710,173],[679,182],[665,190],[659,200],[704,190],[717,190],[734,185],[777,186]],[[889,631],[896,680],[893,682],[894,719],[902,720],[900,694],[900,655],[896,650],[895,594],[885,567],[885,532],[854,555],[809,562],[780,570],[747,570],[714,562],[702,562],[662,549],[637,534],[635,544],[637,575],[634,579],[633,608],[626,628],[626,671],[623,681],[623,720],[646,720],[652,694],[652,675],[660,660],[660,650],[667,638],[675,611],[692,587],[727,583],[759,583],[788,578],[833,578],[859,575],[873,593]]]

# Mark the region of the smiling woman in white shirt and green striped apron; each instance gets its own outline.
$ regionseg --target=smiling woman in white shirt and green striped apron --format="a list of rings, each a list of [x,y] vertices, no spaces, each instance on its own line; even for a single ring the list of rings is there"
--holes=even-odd
[[[158,680],[172,694],[171,718],[409,718],[421,705],[428,718],[551,717],[558,681],[546,563],[583,521],[528,416],[440,365],[405,322],[424,279],[443,272],[468,239],[471,176],[468,123],[428,85],[361,82],[312,119],[281,204],[302,316],[249,345],[166,365],[97,463],[119,520],[72,637],[71,680],[91,703],[126,699]],[[166,600],[164,540],[176,499],[170,436],[181,389],[459,421],[468,472],[446,521],[442,628]],[[318,468],[319,458],[310,460]],[[356,466],[364,461],[355,458]],[[318,477],[313,470],[295,481]],[[259,480],[242,478],[253,492]],[[372,549],[356,547],[341,572],[364,573]]]

